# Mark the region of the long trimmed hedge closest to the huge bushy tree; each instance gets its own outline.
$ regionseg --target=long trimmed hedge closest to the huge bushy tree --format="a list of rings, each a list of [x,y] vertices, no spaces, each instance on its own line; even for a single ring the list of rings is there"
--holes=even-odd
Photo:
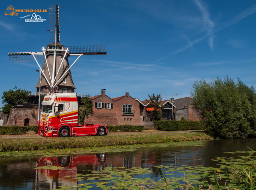
[[[204,130],[202,121],[154,121],[155,127],[160,131]]]

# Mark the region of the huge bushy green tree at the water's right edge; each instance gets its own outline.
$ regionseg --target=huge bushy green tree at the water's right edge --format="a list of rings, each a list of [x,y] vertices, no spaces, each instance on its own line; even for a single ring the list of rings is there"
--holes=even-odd
[[[255,132],[256,94],[238,78],[228,76],[210,82],[196,81],[191,91],[193,104],[200,111],[206,131],[214,138],[246,138]]]

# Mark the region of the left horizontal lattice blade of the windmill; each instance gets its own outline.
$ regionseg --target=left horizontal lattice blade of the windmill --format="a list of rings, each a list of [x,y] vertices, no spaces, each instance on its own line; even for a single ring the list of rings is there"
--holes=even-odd
[[[44,55],[42,52],[33,52],[33,54],[37,61],[44,61]],[[30,52],[8,53],[8,56],[10,63],[35,61]]]

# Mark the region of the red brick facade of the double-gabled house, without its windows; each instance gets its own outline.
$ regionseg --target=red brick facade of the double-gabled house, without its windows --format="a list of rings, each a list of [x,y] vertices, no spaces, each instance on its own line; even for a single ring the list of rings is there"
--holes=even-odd
[[[95,108],[95,102],[112,103],[113,109]],[[133,105],[134,115],[122,115],[122,105]],[[139,102],[134,100],[131,96],[126,95],[123,98],[114,101],[105,94],[92,100],[92,112],[93,114],[89,118],[85,118],[85,123],[104,124],[104,125],[143,125],[140,117],[140,105]],[[124,121],[124,118],[125,121]],[[127,121],[128,119],[128,121]],[[131,121],[132,119],[132,121]]]

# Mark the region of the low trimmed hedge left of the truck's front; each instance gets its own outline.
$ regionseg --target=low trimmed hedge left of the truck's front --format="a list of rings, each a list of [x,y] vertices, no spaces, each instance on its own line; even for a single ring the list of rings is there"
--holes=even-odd
[[[0,135],[24,135],[28,131],[38,132],[38,126],[0,126]]]

